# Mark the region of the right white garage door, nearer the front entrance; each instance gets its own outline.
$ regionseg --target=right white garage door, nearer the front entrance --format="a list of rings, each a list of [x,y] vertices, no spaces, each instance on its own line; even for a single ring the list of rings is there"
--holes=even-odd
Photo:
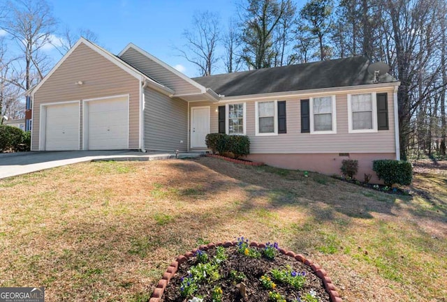
[[[85,102],[87,149],[129,148],[128,98],[109,98]]]

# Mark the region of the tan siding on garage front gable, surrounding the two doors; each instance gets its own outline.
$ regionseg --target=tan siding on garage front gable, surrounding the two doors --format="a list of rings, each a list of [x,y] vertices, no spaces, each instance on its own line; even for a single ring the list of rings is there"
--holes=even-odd
[[[140,80],[81,43],[34,94],[32,149],[39,148],[41,104],[81,100],[82,149],[82,100],[124,94],[129,94],[129,149],[138,149]]]

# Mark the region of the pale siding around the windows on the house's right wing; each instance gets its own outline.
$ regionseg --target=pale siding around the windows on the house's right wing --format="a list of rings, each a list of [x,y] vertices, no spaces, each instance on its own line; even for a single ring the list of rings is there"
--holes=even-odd
[[[286,100],[287,133],[272,136],[255,135],[255,101],[231,102],[247,103],[247,135],[250,137],[251,153],[395,153],[393,89],[376,90],[388,93],[389,130],[377,133],[348,133],[347,93],[336,94],[337,134],[301,133],[300,100],[322,95],[299,96],[295,98],[278,98]],[[367,93],[373,90],[357,91]],[[262,99],[259,100],[269,100]],[[270,98],[272,100],[272,98]],[[211,133],[218,131],[217,107],[226,103],[210,104]],[[190,103],[190,107],[203,106],[205,103]],[[228,122],[227,122],[228,123]]]

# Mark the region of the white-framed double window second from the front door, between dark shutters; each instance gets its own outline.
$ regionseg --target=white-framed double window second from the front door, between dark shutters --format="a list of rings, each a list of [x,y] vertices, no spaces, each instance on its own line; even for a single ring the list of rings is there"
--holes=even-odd
[[[255,103],[256,135],[277,135],[277,101]]]

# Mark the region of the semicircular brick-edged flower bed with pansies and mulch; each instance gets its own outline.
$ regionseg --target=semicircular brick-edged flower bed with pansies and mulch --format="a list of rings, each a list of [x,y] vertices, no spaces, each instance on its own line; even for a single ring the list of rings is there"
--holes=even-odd
[[[321,266],[278,248],[239,238],[177,257],[150,302],[341,302]]]

